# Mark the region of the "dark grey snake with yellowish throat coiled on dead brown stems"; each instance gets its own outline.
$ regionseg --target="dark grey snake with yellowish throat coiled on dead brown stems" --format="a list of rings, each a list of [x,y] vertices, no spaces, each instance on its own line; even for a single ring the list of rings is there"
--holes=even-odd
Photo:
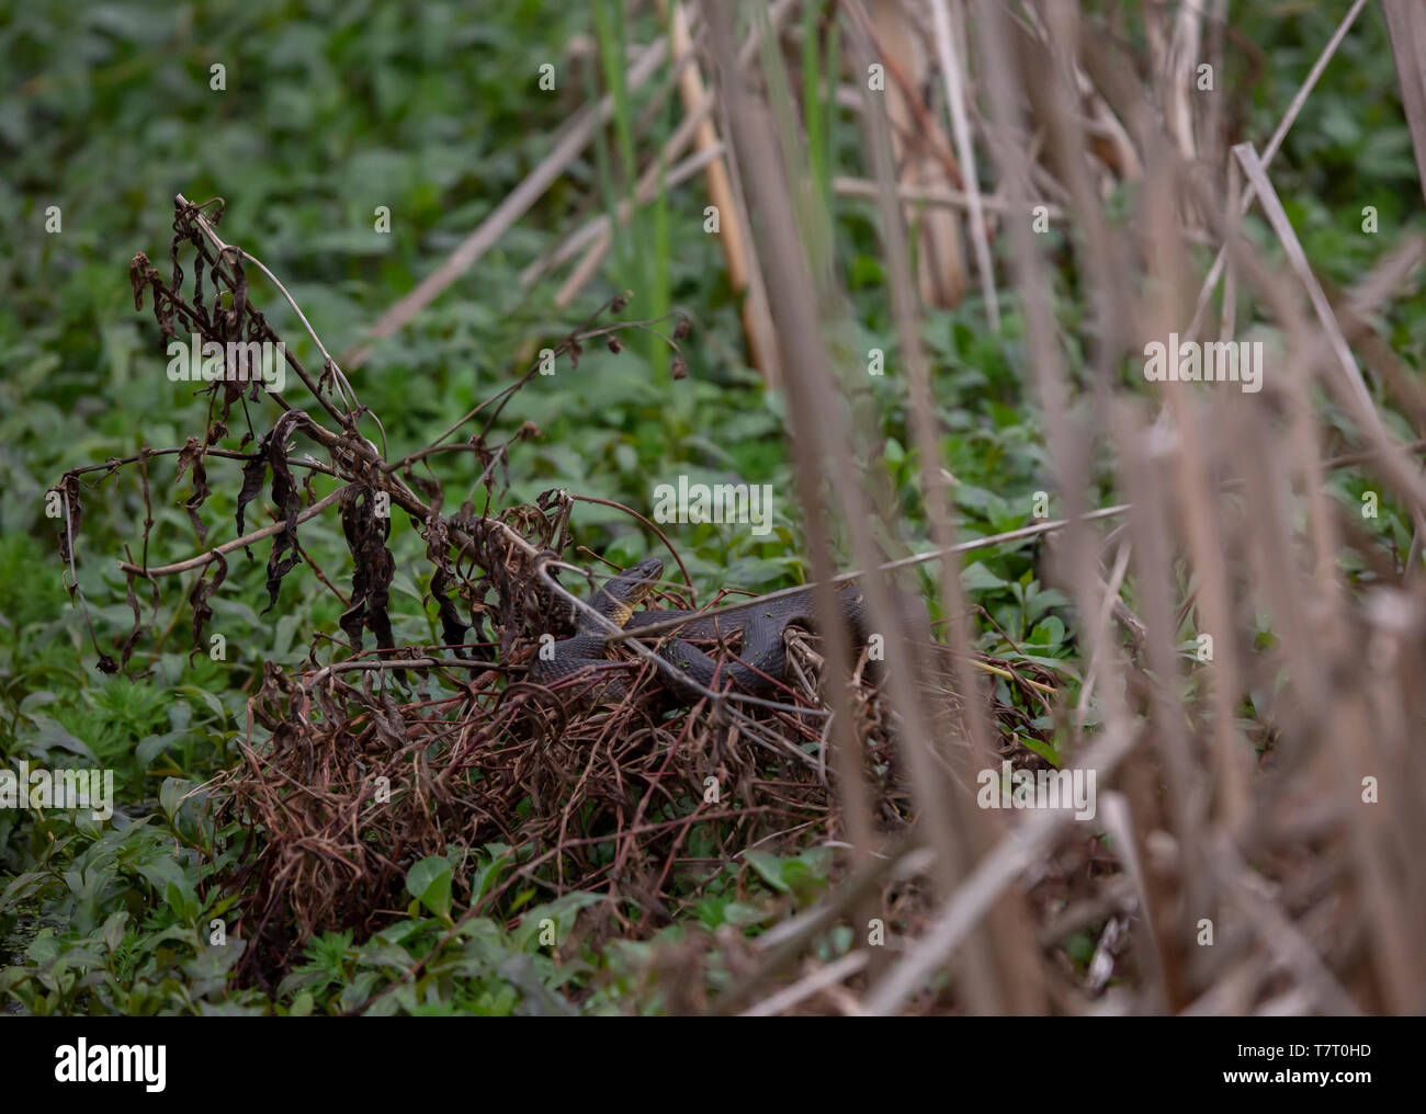
[[[817,628],[811,588],[714,614],[673,608],[636,611],[637,604],[647,597],[662,576],[663,561],[657,557],[649,557],[629,566],[599,588],[589,604],[595,613],[630,633],[656,623],[684,620],[674,633],[663,640],[657,652],[703,688],[713,688],[714,681],[732,680],[740,691],[749,695],[766,697],[774,692],[787,670],[787,647],[783,642],[783,631],[789,625]],[[841,623],[858,645],[866,644],[867,607],[861,590],[854,584],[843,585],[836,593],[836,601]],[[572,638],[555,642],[550,657],[536,655],[530,661],[530,678],[549,685],[580,670],[607,664],[605,657],[607,634],[609,631],[599,623],[580,613]],[[739,660],[723,664],[686,641],[730,641],[737,635],[742,635],[743,640],[742,648],[737,651]],[[674,689],[684,699],[694,699],[700,695],[697,689],[687,685],[674,684]],[[617,698],[625,689],[617,682],[612,682],[610,691]]]

